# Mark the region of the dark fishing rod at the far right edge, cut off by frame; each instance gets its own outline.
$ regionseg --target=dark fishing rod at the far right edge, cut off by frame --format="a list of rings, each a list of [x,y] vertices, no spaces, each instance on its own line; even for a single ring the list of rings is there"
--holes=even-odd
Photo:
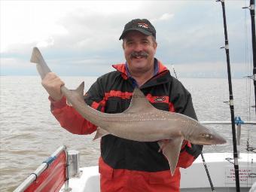
[[[252,60],[253,60],[253,70],[252,79],[254,84],[254,100],[255,100],[255,111],[256,111],[256,45],[255,45],[255,1],[250,0],[250,6],[245,7],[250,10],[251,14],[251,45],[252,45]]]

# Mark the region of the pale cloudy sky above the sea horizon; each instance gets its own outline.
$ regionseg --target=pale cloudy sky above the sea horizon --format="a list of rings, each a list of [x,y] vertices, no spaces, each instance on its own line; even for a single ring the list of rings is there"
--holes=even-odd
[[[252,74],[249,0],[225,1],[233,78]],[[38,47],[62,76],[100,76],[125,62],[124,25],[147,18],[157,30],[156,58],[178,78],[225,78],[221,2],[0,0],[1,75],[38,75],[29,62]]]

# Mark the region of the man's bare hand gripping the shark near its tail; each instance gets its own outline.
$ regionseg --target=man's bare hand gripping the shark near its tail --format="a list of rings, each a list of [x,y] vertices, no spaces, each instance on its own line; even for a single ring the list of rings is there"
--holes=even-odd
[[[63,94],[61,93],[60,87],[64,85],[64,82],[55,73],[47,73],[41,84],[54,101],[62,99]]]

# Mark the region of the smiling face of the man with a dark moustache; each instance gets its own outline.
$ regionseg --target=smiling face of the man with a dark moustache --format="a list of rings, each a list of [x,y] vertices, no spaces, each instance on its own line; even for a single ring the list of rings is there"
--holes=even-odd
[[[154,69],[157,43],[152,36],[138,31],[127,32],[123,38],[123,52],[132,75]]]

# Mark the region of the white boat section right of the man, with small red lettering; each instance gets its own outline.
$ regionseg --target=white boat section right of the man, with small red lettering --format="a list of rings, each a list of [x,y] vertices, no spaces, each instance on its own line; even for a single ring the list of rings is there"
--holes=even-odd
[[[233,160],[226,160],[232,159],[233,154],[208,153],[203,156],[215,191],[236,191]],[[240,154],[239,170],[240,191],[248,191],[256,182],[256,154]],[[181,169],[181,192],[211,191],[209,188],[209,179],[201,157],[198,157],[189,168]]]

